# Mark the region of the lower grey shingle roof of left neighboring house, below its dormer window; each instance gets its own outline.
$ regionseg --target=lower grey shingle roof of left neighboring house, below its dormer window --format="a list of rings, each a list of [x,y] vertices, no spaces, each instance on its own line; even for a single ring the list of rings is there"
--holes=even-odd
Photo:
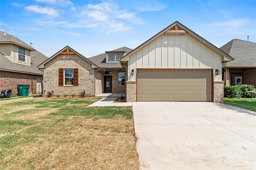
[[[39,70],[37,65],[38,63],[42,63],[48,59],[48,57],[39,51],[31,51],[30,55],[30,66],[28,66],[24,64],[12,63],[12,61],[0,53],[0,70],[43,75],[43,71]]]

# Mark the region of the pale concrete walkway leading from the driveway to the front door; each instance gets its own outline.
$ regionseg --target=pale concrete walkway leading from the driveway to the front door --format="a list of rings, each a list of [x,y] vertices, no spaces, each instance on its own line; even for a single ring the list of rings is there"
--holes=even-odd
[[[102,93],[97,95],[97,97],[105,97],[97,102],[94,102],[93,104],[89,105],[88,107],[95,107],[95,106],[132,106],[132,102],[115,102],[114,101],[120,97],[125,96],[125,94],[121,93]]]

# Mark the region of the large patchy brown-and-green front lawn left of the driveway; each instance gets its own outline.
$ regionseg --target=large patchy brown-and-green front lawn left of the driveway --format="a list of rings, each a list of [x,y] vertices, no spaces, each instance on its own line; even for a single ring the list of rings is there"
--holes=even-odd
[[[132,107],[99,99],[0,100],[0,169],[139,169]]]

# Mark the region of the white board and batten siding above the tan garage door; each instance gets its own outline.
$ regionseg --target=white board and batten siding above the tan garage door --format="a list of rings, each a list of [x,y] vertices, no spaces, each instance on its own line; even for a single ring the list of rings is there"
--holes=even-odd
[[[213,68],[222,70],[221,56],[186,33],[164,33],[129,56],[128,73],[136,68]],[[215,71],[214,71],[215,74]],[[128,75],[129,80],[136,80]],[[221,80],[214,75],[214,81]]]

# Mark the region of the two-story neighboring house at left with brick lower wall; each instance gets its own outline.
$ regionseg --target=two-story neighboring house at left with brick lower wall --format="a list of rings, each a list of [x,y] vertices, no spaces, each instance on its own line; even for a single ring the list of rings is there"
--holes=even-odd
[[[17,84],[28,84],[29,92],[42,92],[43,71],[37,65],[46,59],[20,39],[0,31],[0,91],[11,89],[17,94]]]

